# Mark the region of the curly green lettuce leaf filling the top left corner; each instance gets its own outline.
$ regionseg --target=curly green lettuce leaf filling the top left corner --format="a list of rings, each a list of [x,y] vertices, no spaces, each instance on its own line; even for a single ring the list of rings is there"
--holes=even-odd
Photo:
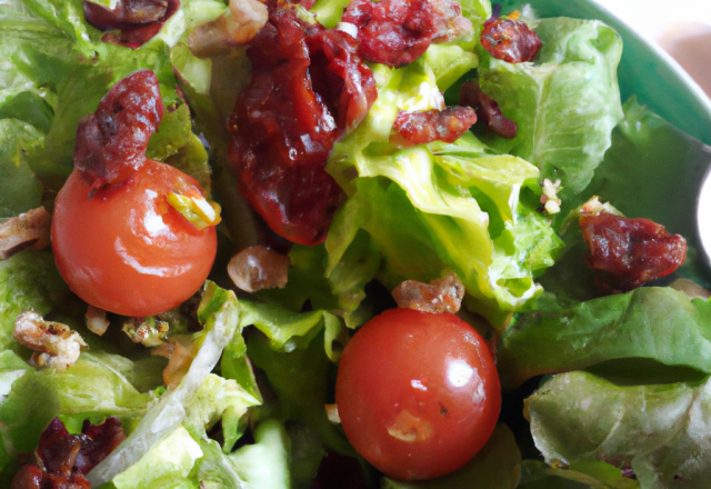
[[[162,40],[137,50],[101,42],[86,22],[81,0],[9,0],[0,4],[0,103],[8,90],[49,100],[53,117],[40,120],[44,143],[27,154],[37,177],[59,190],[73,168],[79,120],[121,78],[143,68],[158,76],[166,106],[179,101],[168,46]],[[37,104],[34,104],[37,108]],[[47,112],[47,108],[44,108]],[[47,113],[49,117],[49,113]]]

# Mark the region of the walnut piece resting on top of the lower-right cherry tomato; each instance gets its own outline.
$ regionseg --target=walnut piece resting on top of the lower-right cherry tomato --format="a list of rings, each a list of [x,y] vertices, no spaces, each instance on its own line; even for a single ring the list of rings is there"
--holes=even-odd
[[[464,298],[464,285],[454,273],[432,280],[430,285],[405,280],[392,291],[399,308],[424,312],[457,312]]]

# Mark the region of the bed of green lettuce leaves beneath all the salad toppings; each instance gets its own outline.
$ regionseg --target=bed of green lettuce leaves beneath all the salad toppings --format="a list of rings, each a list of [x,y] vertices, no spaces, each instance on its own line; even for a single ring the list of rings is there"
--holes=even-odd
[[[563,233],[561,223],[595,193],[643,216],[645,209],[622,194],[619,174],[630,161],[657,158],[670,167],[669,154],[650,150],[655,144],[685,149],[688,158],[711,151],[634,101],[623,111],[622,42],[603,23],[527,18],[543,48],[534,63],[510,64],[478,42],[489,1],[461,3],[473,38],[432,46],[403,68],[371,67],[378,100],[327,166],[347,200],[324,244],[292,248],[287,288],[238,301],[206,285],[202,329],[186,335],[191,363],[173,389],[163,387],[166,360],[119,328],[104,337],[89,332],[86,305],[49,251],[0,262],[0,483],[9,485],[20,453],[36,448],[54,417],[78,432],[86,419],[116,416],[130,436],[90,473],[96,487],[311,487],[327,451],[357,456],[324,403],[347,328],[378,310],[365,286],[377,279],[392,289],[405,278],[429,281],[454,271],[467,286],[467,308],[501,333],[504,386],[554,375],[525,402],[533,441],[552,467],[522,461],[525,440],[501,425],[460,471],[420,483],[385,478],[383,487],[704,487],[710,306],[670,288],[594,298],[584,285],[580,236]],[[312,12],[332,27],[342,7],[319,0]],[[148,68],[171,108],[148,156],[204,189],[212,166],[237,246],[242,230],[233,223],[241,216],[224,204],[231,199],[230,177],[221,172],[226,134],[209,97],[220,71],[187,43],[196,26],[226,9],[220,0],[183,0],[156,38],[130,50],[101,42],[81,0],[0,2],[0,219],[51,206],[72,169],[79,120],[113,83]],[[242,66],[243,53],[232,62]],[[248,71],[239,70],[234,83],[240,77]],[[515,138],[477,129],[449,144],[389,142],[399,110],[437,108],[441,92],[457,103],[462,82],[473,77],[518,122]],[[539,210],[544,178],[561,180],[561,218]],[[220,281],[223,273],[214,276]],[[307,301],[313,311],[300,312]],[[70,325],[90,350],[62,372],[30,368],[29,351],[12,338],[14,319],[29,309]],[[246,443],[250,428],[253,442]],[[630,470],[637,479],[624,477]]]

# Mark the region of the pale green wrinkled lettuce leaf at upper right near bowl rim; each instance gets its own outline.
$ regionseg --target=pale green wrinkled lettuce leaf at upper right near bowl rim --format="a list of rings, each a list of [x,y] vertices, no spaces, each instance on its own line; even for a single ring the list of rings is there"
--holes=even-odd
[[[563,200],[582,191],[622,119],[618,33],[600,21],[542,19],[535,63],[508,63],[482,53],[482,90],[518,123],[511,140],[490,137],[501,152],[531,161],[542,178],[560,179]],[[483,50],[482,50],[483,51]]]

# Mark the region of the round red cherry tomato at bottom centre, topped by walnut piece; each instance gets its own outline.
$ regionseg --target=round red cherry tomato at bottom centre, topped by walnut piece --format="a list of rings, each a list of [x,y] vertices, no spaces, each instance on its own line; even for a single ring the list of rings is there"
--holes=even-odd
[[[459,317],[391,309],[346,346],[336,381],[343,430],[382,472],[403,480],[449,473],[497,423],[501,389],[481,336]]]

